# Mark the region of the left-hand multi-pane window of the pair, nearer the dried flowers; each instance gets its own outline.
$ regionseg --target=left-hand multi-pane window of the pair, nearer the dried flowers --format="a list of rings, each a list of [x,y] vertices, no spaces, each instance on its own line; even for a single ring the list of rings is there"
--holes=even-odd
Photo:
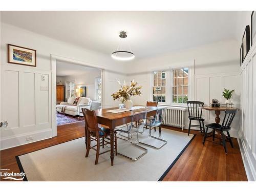
[[[153,100],[165,102],[166,71],[157,71],[153,75]]]

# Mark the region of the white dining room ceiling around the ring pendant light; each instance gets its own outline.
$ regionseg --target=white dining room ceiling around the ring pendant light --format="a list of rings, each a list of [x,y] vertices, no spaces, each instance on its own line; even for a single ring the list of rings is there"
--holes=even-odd
[[[1,11],[4,23],[110,55],[126,31],[136,58],[235,37],[237,11]],[[29,22],[28,22],[29,21]]]

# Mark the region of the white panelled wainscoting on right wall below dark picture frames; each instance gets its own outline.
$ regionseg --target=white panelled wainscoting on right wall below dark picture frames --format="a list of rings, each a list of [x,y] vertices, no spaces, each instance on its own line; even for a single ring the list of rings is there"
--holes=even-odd
[[[241,129],[239,145],[247,178],[256,181],[256,45],[247,54],[241,70]]]

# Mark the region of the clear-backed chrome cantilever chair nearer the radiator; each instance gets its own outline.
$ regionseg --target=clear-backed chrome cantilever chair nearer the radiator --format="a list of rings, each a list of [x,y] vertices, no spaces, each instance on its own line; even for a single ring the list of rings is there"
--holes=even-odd
[[[148,137],[151,137],[153,139],[157,139],[159,141],[162,141],[163,144],[161,146],[157,147],[157,146],[154,146],[154,145],[151,145],[151,144],[148,144],[148,143],[144,143],[144,142],[141,142],[141,141],[138,140],[139,143],[147,145],[147,146],[150,146],[150,147],[155,148],[157,150],[159,150],[159,148],[162,148],[167,143],[167,141],[151,135],[151,129],[153,127],[158,126],[159,127],[159,137],[161,137],[161,124],[162,124],[162,122],[163,122],[163,120],[165,118],[165,111],[166,111],[165,108],[158,109],[157,112],[156,112],[156,115],[154,116],[154,118],[150,119],[150,120],[147,120],[147,122],[146,122],[146,125],[150,126]],[[144,129],[141,132],[141,134],[143,134],[143,132],[144,132]]]

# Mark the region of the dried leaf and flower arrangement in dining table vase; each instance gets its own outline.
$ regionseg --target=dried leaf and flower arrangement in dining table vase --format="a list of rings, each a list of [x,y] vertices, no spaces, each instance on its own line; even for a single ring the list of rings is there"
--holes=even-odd
[[[122,103],[125,103],[126,100],[131,99],[134,95],[141,94],[140,89],[141,86],[137,86],[137,82],[134,82],[134,79],[131,81],[130,85],[127,85],[124,81],[123,84],[118,80],[117,81],[121,87],[116,93],[113,93],[111,96],[114,98],[114,100],[119,99]]]

